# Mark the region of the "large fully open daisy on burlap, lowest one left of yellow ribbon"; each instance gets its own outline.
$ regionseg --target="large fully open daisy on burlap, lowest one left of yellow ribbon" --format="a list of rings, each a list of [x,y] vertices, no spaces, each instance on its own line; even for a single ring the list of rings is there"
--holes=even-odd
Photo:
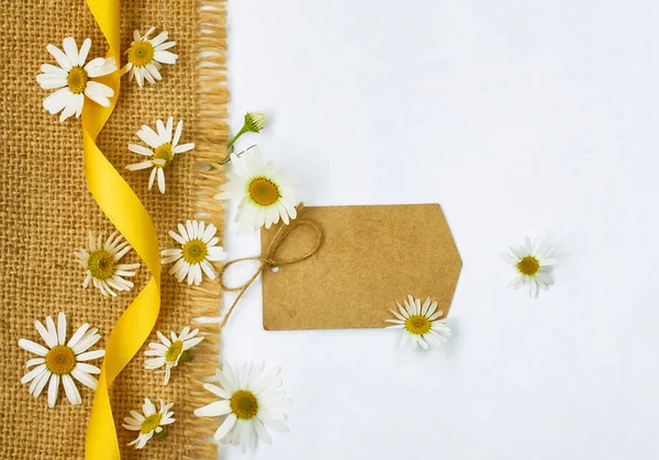
[[[57,315],[57,325],[51,316],[47,316],[45,326],[40,321],[36,321],[34,326],[47,348],[26,338],[19,339],[21,348],[37,355],[37,358],[27,361],[27,369],[32,369],[23,375],[21,383],[30,383],[29,391],[34,397],[38,397],[48,383],[48,407],[55,407],[60,383],[71,404],[82,403],[74,379],[96,390],[97,380],[91,374],[101,373],[101,370],[86,361],[105,355],[104,350],[88,351],[101,339],[101,335],[98,334],[99,329],[85,323],[66,341],[66,315],[64,313]]]

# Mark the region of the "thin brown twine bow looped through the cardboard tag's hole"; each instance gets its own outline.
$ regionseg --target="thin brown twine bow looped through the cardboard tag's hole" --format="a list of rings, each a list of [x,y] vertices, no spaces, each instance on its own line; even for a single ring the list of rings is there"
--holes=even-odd
[[[298,207],[298,213],[301,213],[302,209],[303,209],[303,205],[300,204],[300,206]],[[315,243],[314,243],[313,247],[310,250],[308,250],[306,253],[302,254],[301,256],[292,257],[290,259],[277,259],[277,257],[276,257],[277,250],[279,250],[279,248],[281,247],[283,242],[286,242],[286,239],[291,235],[291,233],[293,233],[293,231],[295,228],[302,228],[302,227],[310,228],[313,232],[313,235],[315,237]],[[316,224],[315,222],[312,222],[312,221],[295,220],[295,221],[291,222],[289,225],[282,225],[281,228],[279,228],[279,231],[275,234],[272,242],[270,242],[270,246],[268,246],[268,248],[266,249],[266,251],[263,255],[253,256],[253,257],[243,257],[243,258],[230,260],[228,262],[226,262],[220,270],[220,277],[219,277],[220,285],[222,287],[222,289],[224,291],[237,292],[238,295],[236,296],[236,299],[234,299],[233,304],[226,312],[226,315],[224,316],[224,321],[222,321],[220,328],[224,327],[224,325],[228,321],[228,317],[233,313],[233,310],[237,305],[238,301],[241,300],[241,298],[243,296],[245,291],[247,291],[247,288],[249,288],[252,285],[252,283],[258,278],[258,276],[260,273],[264,272],[264,270],[267,270],[267,269],[270,269],[273,267],[283,267],[287,265],[298,263],[298,262],[301,262],[302,260],[309,259],[311,256],[313,256],[314,254],[317,253],[317,250],[321,248],[322,244],[323,244],[323,231],[321,229],[319,224]],[[258,268],[252,276],[252,278],[249,278],[243,284],[239,284],[236,287],[226,285],[224,283],[224,273],[226,273],[226,269],[234,263],[244,262],[246,260],[258,260],[260,262]]]

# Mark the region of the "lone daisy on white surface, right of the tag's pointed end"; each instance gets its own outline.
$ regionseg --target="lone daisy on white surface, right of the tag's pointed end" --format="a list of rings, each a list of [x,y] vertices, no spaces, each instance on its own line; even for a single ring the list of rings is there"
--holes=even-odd
[[[554,284],[551,277],[551,266],[556,263],[556,259],[549,256],[554,248],[540,246],[538,242],[533,243],[528,236],[524,239],[524,244],[520,249],[510,247],[507,251],[501,256],[512,265],[517,274],[511,281],[510,285],[515,289],[524,287],[528,290],[532,296],[536,296],[539,289],[548,290]]]

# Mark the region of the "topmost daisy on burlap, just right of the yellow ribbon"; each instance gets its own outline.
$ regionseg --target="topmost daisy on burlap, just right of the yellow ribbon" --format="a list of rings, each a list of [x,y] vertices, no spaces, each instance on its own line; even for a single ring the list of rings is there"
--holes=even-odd
[[[176,45],[176,42],[167,42],[168,32],[160,32],[155,38],[148,37],[155,30],[150,27],[144,35],[133,31],[133,43],[126,52],[129,64],[121,69],[121,75],[129,74],[130,80],[134,78],[141,87],[144,80],[152,85],[161,80],[163,64],[176,64],[178,58],[178,55],[167,51]]]

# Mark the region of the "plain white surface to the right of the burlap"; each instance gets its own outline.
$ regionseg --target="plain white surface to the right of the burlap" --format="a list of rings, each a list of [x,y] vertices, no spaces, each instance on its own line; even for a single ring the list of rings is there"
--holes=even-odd
[[[293,405],[252,458],[659,458],[659,4],[228,3],[232,127],[270,120],[241,146],[309,205],[440,203],[463,260],[454,337],[429,352],[383,329],[267,333],[255,283],[224,358],[281,366]],[[525,235],[559,259],[538,299],[500,258]],[[256,255],[258,235],[231,223],[225,247]]]

